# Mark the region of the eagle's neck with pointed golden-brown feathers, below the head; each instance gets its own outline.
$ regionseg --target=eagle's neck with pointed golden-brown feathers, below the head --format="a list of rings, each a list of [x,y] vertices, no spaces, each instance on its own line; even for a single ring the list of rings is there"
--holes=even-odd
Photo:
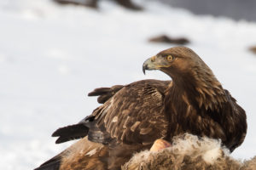
[[[179,77],[172,77],[172,83],[167,89],[168,94],[176,96],[172,101],[177,100],[206,111],[218,111],[227,101],[224,89],[210,69],[189,71]]]

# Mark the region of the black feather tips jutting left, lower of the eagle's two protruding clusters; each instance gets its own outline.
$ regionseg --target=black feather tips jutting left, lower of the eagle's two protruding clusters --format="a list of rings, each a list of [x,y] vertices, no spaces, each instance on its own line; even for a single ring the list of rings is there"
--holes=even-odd
[[[81,139],[87,135],[89,131],[88,127],[85,127],[84,124],[75,124],[67,127],[61,127],[57,129],[51,136],[59,137],[55,143],[61,144],[73,139]]]

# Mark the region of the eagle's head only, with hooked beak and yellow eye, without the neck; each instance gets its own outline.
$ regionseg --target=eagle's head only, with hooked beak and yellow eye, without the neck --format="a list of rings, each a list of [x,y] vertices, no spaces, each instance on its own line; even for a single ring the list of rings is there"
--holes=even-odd
[[[174,47],[161,51],[143,63],[143,72],[146,70],[160,70],[172,77],[173,80],[187,74],[214,77],[211,69],[190,48]]]

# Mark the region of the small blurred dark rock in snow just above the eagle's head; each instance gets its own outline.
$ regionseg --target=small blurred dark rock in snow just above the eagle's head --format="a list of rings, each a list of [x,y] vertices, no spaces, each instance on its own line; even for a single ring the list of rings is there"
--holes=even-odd
[[[165,43],[175,43],[175,44],[187,44],[189,40],[185,37],[172,38],[166,35],[161,35],[157,37],[152,37],[148,40],[149,42],[165,42]]]

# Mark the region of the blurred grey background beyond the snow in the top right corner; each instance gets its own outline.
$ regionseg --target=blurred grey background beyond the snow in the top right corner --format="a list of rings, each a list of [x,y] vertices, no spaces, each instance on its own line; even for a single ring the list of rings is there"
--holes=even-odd
[[[235,20],[256,21],[255,0],[157,0],[175,8],[186,8],[194,14],[226,16]]]

